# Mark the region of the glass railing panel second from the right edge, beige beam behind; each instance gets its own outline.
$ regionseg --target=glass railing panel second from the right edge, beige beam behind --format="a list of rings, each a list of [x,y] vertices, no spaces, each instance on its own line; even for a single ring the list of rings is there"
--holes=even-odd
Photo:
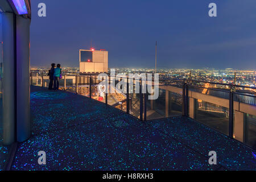
[[[188,81],[189,117],[222,134],[229,135],[230,92],[228,91],[227,85],[208,83],[203,83],[199,87],[195,85],[197,84],[191,84]]]

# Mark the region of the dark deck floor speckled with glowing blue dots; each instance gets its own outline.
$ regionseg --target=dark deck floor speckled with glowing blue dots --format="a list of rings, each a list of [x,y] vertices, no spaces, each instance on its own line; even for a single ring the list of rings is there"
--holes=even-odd
[[[32,137],[13,170],[253,169],[249,148],[188,118],[141,122],[98,101],[31,88]],[[217,152],[217,165],[208,152]],[[47,164],[38,164],[46,151]]]

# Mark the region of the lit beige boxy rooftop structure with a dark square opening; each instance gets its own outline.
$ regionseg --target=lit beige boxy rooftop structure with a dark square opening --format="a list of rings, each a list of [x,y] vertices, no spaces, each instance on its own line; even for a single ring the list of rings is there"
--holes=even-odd
[[[108,51],[79,50],[80,73],[108,72]]]

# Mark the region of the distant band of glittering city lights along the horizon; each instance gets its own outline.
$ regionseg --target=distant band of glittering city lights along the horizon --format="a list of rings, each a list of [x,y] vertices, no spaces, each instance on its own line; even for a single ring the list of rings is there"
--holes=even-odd
[[[46,75],[48,67],[31,67],[31,71],[40,72],[40,74]],[[114,69],[115,74],[125,73],[155,73],[154,68],[109,68],[108,72]],[[64,75],[73,75],[79,73],[80,68],[68,68],[62,67]],[[81,73],[81,72],[80,72]],[[91,73],[91,72],[89,72]],[[201,80],[210,82],[219,82],[224,84],[235,84],[244,86],[256,86],[256,71],[250,70],[234,70],[234,69],[187,69],[187,68],[176,68],[176,69],[158,69],[160,79],[191,79]],[[236,77],[236,79],[235,79]],[[236,81],[235,81],[236,80]],[[236,83],[235,83],[236,82]]]

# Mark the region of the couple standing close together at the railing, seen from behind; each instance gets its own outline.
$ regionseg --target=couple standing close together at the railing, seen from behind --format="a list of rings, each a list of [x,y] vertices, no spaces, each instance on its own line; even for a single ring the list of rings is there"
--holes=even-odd
[[[59,82],[61,79],[61,68],[60,64],[57,64],[57,68],[55,63],[52,63],[52,68],[49,70],[48,76],[49,76],[49,90],[59,90]],[[53,86],[53,88],[52,88]]]

